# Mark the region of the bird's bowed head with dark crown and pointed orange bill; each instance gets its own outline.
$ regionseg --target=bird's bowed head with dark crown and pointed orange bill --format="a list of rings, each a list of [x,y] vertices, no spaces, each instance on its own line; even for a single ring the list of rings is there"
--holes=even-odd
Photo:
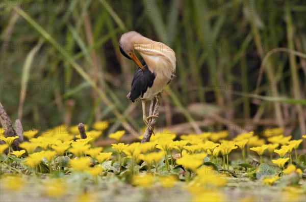
[[[135,64],[144,70],[143,65],[138,60],[135,51],[133,42],[135,38],[141,37],[141,35],[135,31],[124,33],[119,40],[119,49],[123,56],[127,59],[133,60]]]

